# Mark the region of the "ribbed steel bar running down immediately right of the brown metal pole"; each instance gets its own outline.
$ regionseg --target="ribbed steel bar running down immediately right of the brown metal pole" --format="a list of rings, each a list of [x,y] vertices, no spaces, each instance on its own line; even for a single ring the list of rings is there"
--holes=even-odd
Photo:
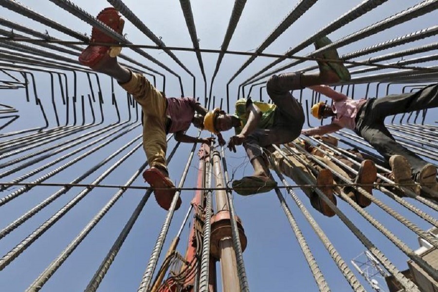
[[[225,159],[225,150],[223,146],[220,149],[222,156],[222,168],[224,172],[225,183],[228,184],[230,177],[228,175],[228,167]],[[234,251],[236,253],[237,273],[239,275],[240,292],[249,292],[248,278],[246,276],[245,262],[243,261],[242,244],[240,243],[239,231],[237,229],[236,211],[233,202],[233,193],[227,190],[228,211],[230,212],[231,232],[233,237]]]

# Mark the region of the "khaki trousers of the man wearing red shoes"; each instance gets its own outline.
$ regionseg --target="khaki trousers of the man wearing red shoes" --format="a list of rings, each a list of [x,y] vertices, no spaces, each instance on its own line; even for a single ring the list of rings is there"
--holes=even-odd
[[[166,170],[166,98],[145,76],[132,73],[127,83],[120,84],[143,110],[143,149],[149,166]]]

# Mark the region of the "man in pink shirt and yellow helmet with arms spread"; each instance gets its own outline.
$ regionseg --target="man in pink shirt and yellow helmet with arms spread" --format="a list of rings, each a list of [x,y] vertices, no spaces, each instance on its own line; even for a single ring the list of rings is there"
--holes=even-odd
[[[417,195],[420,195],[420,191],[424,191],[438,197],[436,167],[397,143],[384,125],[387,116],[438,107],[438,84],[426,86],[416,92],[368,100],[350,99],[325,85],[309,88],[333,100],[331,106],[320,102],[313,105],[311,109],[314,117],[318,119],[332,117],[332,122],[329,125],[302,130],[302,134],[324,135],[342,128],[351,129],[389,162],[395,183],[406,184],[406,187]],[[414,181],[432,191],[421,189]]]

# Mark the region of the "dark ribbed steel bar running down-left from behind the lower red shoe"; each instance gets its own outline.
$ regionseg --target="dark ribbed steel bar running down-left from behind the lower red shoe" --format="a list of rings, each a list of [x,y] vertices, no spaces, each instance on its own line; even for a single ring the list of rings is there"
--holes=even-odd
[[[180,146],[180,143],[178,142],[175,147],[173,147],[170,154],[167,156],[167,164],[170,164],[172,161],[172,158]],[[114,258],[117,256],[120,248],[123,245],[123,242],[125,241],[126,237],[128,237],[129,232],[132,229],[132,226],[134,226],[135,221],[137,220],[138,216],[140,216],[140,213],[143,210],[143,207],[146,204],[146,201],[149,199],[150,194],[152,193],[152,189],[148,189],[146,191],[146,194],[143,196],[142,200],[139,202],[137,207],[135,208],[134,212],[132,213],[131,217],[129,218],[128,222],[125,224],[125,227],[123,227],[122,231],[120,232],[117,239],[114,241],[114,244],[111,246],[110,251],[108,252],[107,256],[104,258],[102,263],[100,264],[99,268],[97,269],[96,273],[94,273],[93,277],[91,278],[90,282],[87,285],[87,288],[85,289],[85,292],[95,292],[98,288],[100,283],[102,282],[103,278],[107,274],[108,270],[110,269],[110,266],[112,262],[114,261]]]

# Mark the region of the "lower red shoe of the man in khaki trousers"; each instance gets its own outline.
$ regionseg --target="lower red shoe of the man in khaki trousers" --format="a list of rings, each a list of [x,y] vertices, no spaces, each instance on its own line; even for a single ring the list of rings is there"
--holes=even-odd
[[[172,183],[169,178],[166,178],[163,173],[155,167],[151,167],[143,173],[143,178],[147,183],[149,183],[152,187],[168,187],[174,188],[175,185]],[[154,190],[155,200],[164,210],[169,210],[170,204],[172,203],[173,196],[175,196],[175,189],[161,189]],[[178,210],[181,206],[181,198],[178,198],[178,201],[175,206],[175,210]]]

